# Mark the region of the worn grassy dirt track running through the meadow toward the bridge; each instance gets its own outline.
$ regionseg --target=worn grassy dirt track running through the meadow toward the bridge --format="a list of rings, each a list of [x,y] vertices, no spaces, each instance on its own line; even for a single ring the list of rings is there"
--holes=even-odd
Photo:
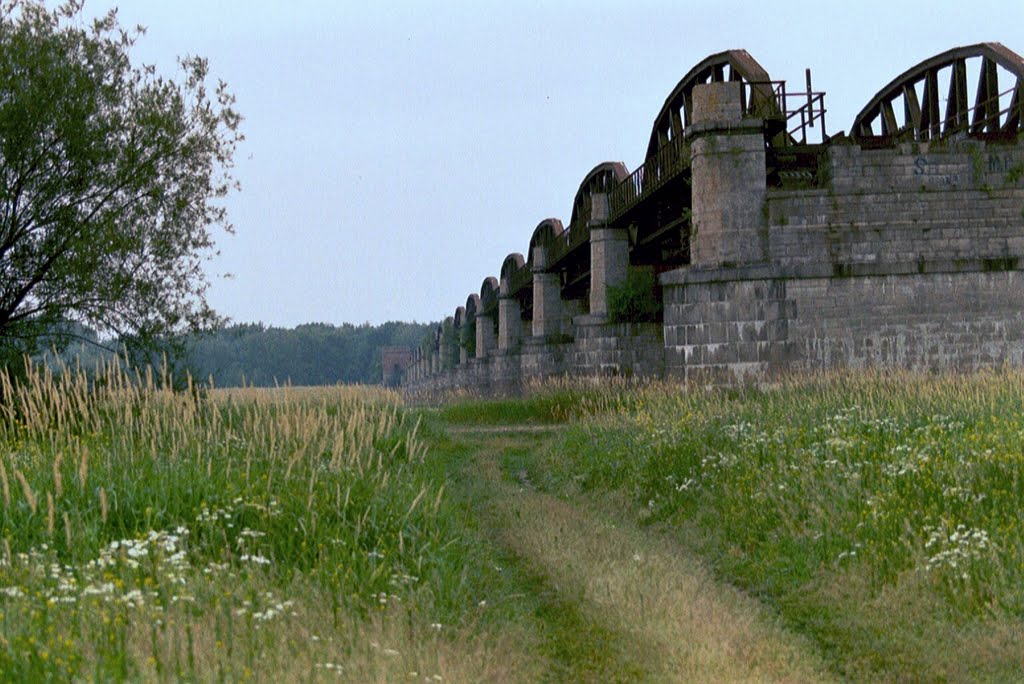
[[[558,428],[450,427],[481,528],[530,578],[547,681],[820,682],[806,641],[623,507],[539,489]]]

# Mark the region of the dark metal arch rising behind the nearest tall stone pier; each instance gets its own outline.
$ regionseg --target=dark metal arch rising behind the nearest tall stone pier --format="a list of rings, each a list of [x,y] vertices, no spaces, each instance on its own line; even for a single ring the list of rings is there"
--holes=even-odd
[[[743,108],[748,114],[760,114],[765,108],[777,111],[771,77],[746,50],[726,50],[713,54],[687,72],[666,98],[662,111],[654,119],[650,141],[647,143],[648,158],[681,136],[690,125],[693,87],[723,81],[740,81],[750,86],[750,90],[743,89],[744,95],[751,93],[750,101],[744,102]]]

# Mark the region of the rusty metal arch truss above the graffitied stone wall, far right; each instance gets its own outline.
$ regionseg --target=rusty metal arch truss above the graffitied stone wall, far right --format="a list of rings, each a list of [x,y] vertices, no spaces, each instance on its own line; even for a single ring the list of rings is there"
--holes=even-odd
[[[978,62],[973,101],[968,60]],[[1013,83],[998,83],[998,68]],[[940,82],[948,82],[940,92]],[[1009,98],[1007,108],[1000,100]],[[945,100],[942,106],[942,100]],[[897,113],[902,114],[902,120]],[[1024,57],[1000,43],[955,47],[903,72],[854,119],[854,138],[935,140],[957,133],[1015,135],[1024,130]]]

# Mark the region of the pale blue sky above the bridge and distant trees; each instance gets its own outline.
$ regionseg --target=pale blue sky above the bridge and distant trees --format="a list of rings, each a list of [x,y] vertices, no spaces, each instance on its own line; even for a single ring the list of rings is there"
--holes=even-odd
[[[666,96],[744,48],[830,131],[957,45],[1024,53],[1024,2],[87,0],[148,28],[139,60],[209,57],[247,136],[210,301],[237,322],[436,320],[587,172],[638,166]],[[233,277],[220,277],[223,273]]]

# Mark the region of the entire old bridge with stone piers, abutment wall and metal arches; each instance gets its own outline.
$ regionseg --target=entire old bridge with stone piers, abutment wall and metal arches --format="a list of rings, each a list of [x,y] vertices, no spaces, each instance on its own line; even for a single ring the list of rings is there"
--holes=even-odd
[[[807,83],[787,93],[743,50],[698,62],[643,165],[594,167],[568,223],[541,221],[415,350],[403,388],[1024,366],[1024,58],[930,57],[850,134],[825,133]]]

